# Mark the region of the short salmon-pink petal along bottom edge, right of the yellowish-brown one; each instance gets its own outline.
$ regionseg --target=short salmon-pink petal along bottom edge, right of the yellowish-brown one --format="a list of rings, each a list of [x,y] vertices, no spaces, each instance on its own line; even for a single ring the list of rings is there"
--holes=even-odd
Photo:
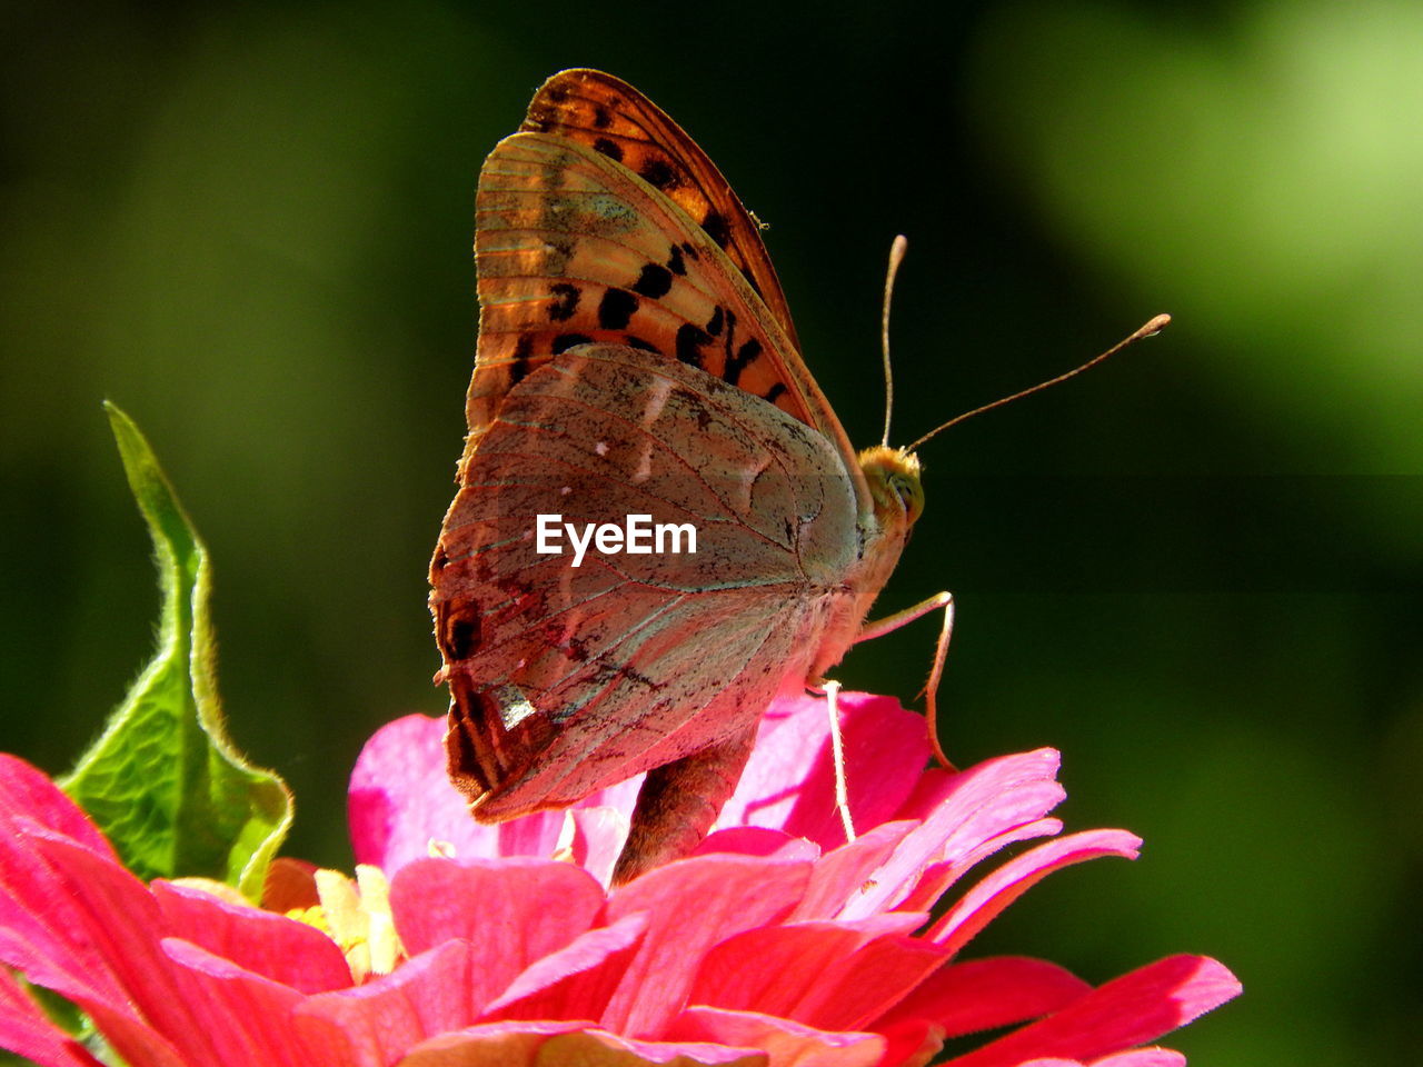
[[[689,1007],[670,1037],[761,1049],[767,1067],[875,1067],[885,1050],[879,1034],[828,1033],[756,1012]]]

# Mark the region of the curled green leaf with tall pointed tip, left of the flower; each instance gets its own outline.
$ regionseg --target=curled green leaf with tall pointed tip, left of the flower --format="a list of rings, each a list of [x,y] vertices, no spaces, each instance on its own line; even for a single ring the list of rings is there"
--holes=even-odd
[[[259,899],[292,794],[232,745],[218,703],[208,549],[134,421],[105,404],[162,588],[158,652],[63,782],[141,878],[205,876]]]

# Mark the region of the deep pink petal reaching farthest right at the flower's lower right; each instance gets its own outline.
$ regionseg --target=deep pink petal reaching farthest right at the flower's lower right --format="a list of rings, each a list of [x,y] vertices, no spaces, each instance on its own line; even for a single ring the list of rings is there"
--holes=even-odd
[[[1235,976],[1212,959],[1170,956],[1123,975],[1062,1012],[949,1060],[949,1064],[1017,1067],[1035,1057],[1091,1061],[1185,1026],[1239,990]]]

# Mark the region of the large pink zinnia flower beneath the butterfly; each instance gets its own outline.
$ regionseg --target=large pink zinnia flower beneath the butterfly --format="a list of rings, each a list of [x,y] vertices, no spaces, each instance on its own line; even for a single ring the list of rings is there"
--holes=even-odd
[[[871,1067],[1020,1023],[949,1063],[1183,1063],[1138,1046],[1235,996],[1214,960],[1091,987],[1043,960],[959,959],[1049,872],[1137,852],[1124,831],[1054,837],[1056,753],[921,774],[922,718],[877,697],[842,707],[854,842],[824,704],[787,701],[697,855],[612,892],[635,784],[480,827],[444,780],[443,724],[397,720],[351,782],[359,888],[320,872],[320,903],[292,915],[142,883],[43,774],[0,757],[0,962],[78,1004],[131,1067]],[[958,888],[1005,845],[1044,837]],[[0,1044],[95,1063],[4,969]]]

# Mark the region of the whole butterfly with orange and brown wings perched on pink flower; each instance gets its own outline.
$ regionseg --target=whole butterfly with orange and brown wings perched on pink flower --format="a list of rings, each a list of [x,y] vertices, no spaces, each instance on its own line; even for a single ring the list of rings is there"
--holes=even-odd
[[[475,213],[468,437],[430,570],[450,777],[494,822],[647,771],[625,882],[697,844],[777,694],[946,606],[865,623],[919,464],[854,451],[757,222],[626,83],[549,78]],[[635,551],[632,525],[593,542],[629,516],[696,551]]]

